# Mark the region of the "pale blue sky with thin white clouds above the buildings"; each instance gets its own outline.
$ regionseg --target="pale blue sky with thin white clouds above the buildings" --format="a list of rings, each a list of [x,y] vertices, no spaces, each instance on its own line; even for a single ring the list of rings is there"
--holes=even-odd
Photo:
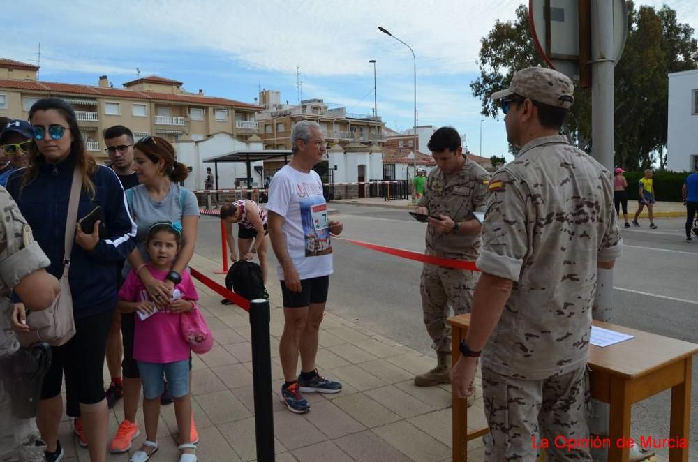
[[[378,114],[396,130],[413,125],[413,59],[407,47],[378,31],[383,26],[417,57],[420,125],[452,125],[480,152],[477,77],[480,39],[494,22],[510,20],[517,0],[383,1],[20,1],[6,2],[0,57],[30,62],[41,43],[40,79],[114,87],[156,74],[253,103],[258,87],[345,105],[371,114],[376,59]],[[680,22],[698,27],[694,0],[667,3]],[[506,151],[503,121],[482,124],[484,156]]]

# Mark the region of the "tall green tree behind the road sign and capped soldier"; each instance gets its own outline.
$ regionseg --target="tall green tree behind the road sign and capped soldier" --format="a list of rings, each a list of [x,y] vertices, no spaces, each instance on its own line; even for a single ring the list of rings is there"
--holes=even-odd
[[[696,68],[691,57],[698,50],[693,29],[681,24],[676,12],[664,6],[628,5],[628,39],[614,72],[616,165],[646,167],[658,155],[660,167],[667,156],[667,73]],[[482,101],[482,114],[498,117],[489,96],[508,87],[514,70],[546,66],[533,42],[528,8],[519,6],[513,21],[497,21],[482,40],[480,77],[470,83]],[[565,134],[578,147],[591,151],[591,91],[577,87],[567,117]],[[512,152],[514,147],[510,147]]]

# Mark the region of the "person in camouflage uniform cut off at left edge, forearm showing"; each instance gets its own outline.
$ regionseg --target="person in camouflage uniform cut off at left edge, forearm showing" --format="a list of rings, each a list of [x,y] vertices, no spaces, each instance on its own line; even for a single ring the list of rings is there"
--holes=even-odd
[[[45,308],[57,296],[59,285],[56,278],[43,268],[50,261],[44,255],[31,229],[24,221],[20,209],[10,198],[5,188],[0,187],[0,363],[20,348],[15,329],[20,326],[24,310],[15,309],[10,301],[13,290],[34,310]],[[18,314],[19,312],[22,314]],[[13,322],[13,320],[15,322]],[[0,366],[0,462],[44,461],[43,441],[39,439],[34,419],[19,419],[13,416],[10,395],[6,391],[5,367]]]

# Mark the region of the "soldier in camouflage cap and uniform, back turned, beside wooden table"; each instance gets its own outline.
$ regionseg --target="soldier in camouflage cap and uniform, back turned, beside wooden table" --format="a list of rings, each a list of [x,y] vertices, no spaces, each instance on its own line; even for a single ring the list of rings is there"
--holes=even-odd
[[[551,461],[591,461],[588,449],[554,438],[589,437],[586,360],[597,267],[621,253],[611,174],[560,136],[574,87],[564,75],[528,68],[492,95],[507,116],[517,158],[489,183],[468,336],[452,371],[467,396],[482,351],[490,433],[487,461],[535,461],[547,438]]]

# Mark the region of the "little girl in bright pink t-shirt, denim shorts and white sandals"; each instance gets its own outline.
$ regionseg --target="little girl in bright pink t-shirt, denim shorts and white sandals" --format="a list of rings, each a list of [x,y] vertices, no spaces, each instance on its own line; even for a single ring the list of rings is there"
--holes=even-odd
[[[146,264],[150,274],[159,281],[168,276],[172,262],[181,248],[179,223],[155,223],[148,230]],[[133,358],[143,384],[143,415],[146,440],[133,453],[131,462],[145,462],[158,450],[157,431],[160,418],[160,395],[163,375],[168,380],[174,398],[174,415],[179,428],[180,462],[195,462],[195,445],[190,437],[191,401],[189,400],[189,344],[181,334],[181,313],[196,308],[199,299],[187,271],[174,286],[172,300],[166,310],[158,308],[150,299],[145,285],[138,277],[138,269],[131,269],[119,290],[117,307],[121,313],[137,314]]]

